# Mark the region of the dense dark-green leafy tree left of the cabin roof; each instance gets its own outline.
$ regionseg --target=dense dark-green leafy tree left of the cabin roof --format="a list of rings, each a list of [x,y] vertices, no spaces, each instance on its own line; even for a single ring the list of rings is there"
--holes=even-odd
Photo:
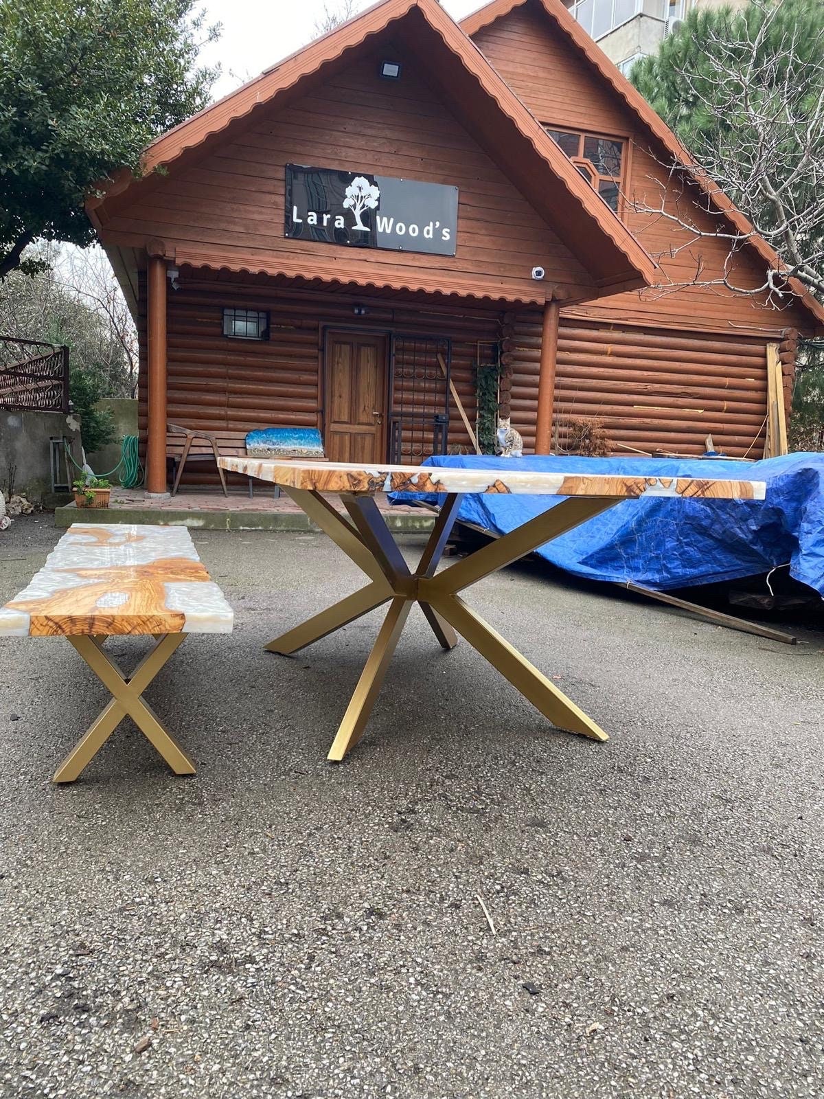
[[[0,278],[37,237],[85,245],[87,189],[207,106],[194,0],[0,3]]]

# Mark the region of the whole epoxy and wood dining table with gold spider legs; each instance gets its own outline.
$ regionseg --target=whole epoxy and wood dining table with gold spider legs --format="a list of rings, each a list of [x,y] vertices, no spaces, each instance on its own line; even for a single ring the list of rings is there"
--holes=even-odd
[[[220,464],[230,471],[280,486],[369,578],[366,587],[270,641],[266,646],[269,652],[296,653],[389,603],[332,743],[329,758],[334,761],[343,759],[363,735],[415,602],[443,648],[454,648],[459,633],[558,729],[597,741],[608,740],[591,718],[468,607],[460,592],[622,500],[642,496],[762,500],[765,496],[765,485],[759,481],[534,473],[519,470],[516,458],[512,459],[511,471],[476,466],[366,466],[242,457],[222,457]],[[407,565],[378,509],[375,501],[378,492],[434,492],[446,497],[414,571]],[[469,492],[520,492],[565,499],[436,571],[457,519],[461,495]],[[347,514],[338,512],[323,493],[339,495]]]

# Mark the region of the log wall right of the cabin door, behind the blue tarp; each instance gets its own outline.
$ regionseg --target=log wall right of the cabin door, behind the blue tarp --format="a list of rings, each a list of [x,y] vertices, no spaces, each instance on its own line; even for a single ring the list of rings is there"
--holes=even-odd
[[[508,313],[503,363],[512,423],[535,444],[541,314]],[[733,457],[761,457],[766,340],[590,323],[561,315],[555,424],[561,447],[574,417],[603,421],[615,454],[634,447],[703,454],[712,434]],[[620,444],[623,444],[620,445]]]

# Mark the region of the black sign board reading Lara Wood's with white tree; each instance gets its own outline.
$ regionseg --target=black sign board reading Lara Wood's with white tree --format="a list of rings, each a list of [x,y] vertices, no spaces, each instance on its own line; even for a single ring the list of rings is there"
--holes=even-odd
[[[286,166],[286,236],[454,256],[457,229],[457,187]]]

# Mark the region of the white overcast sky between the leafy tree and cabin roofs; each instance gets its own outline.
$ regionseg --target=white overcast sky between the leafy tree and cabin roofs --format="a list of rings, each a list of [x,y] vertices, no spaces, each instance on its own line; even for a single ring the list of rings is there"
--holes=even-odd
[[[485,0],[442,0],[453,19],[463,19]],[[223,74],[212,89],[215,99],[288,57],[315,36],[315,20],[337,0],[205,0],[207,20],[222,23],[220,41],[201,51],[204,64],[220,62]],[[369,7],[360,0],[359,10]]]

